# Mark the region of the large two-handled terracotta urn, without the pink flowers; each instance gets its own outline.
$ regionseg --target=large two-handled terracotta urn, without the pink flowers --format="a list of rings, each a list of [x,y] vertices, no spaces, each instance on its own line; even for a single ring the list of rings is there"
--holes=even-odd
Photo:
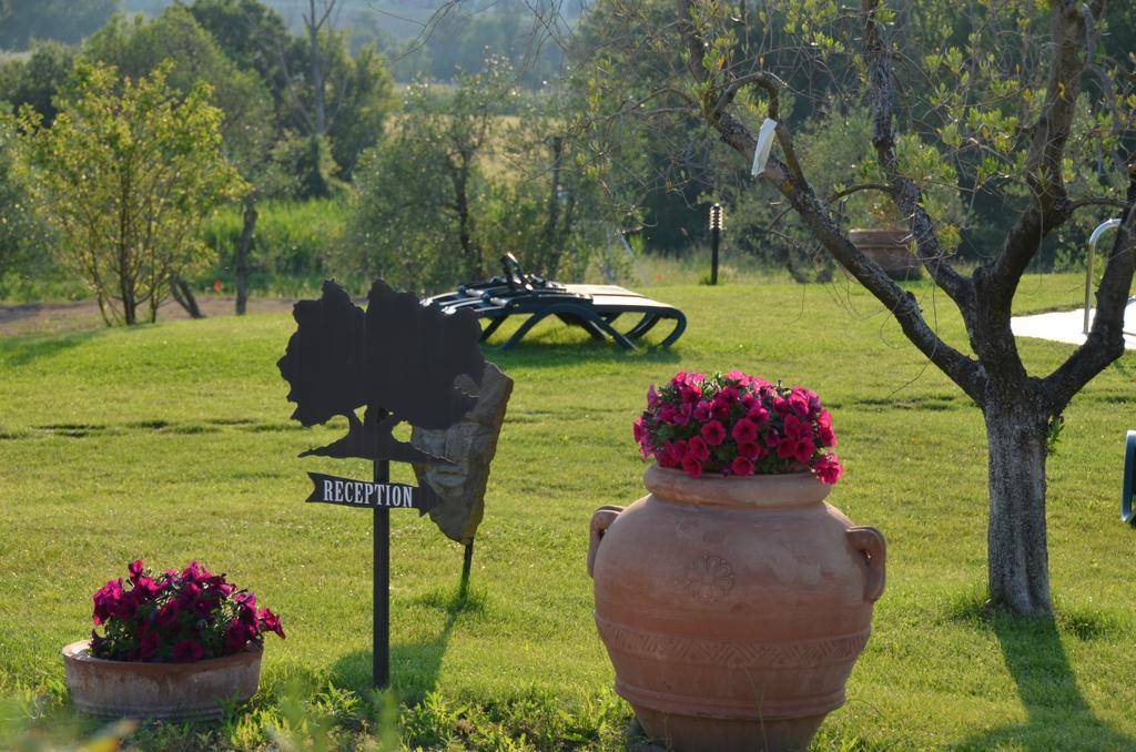
[[[676,750],[803,749],[868,642],[884,537],[811,474],[692,479],[592,517],[595,624],[616,692]]]

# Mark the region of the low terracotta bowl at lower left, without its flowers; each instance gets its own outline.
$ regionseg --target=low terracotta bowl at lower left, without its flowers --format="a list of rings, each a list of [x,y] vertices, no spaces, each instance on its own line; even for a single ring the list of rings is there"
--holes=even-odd
[[[64,667],[75,708],[93,716],[216,719],[222,703],[244,702],[260,682],[259,645],[195,663],[108,661],[90,646],[82,640],[64,647]]]

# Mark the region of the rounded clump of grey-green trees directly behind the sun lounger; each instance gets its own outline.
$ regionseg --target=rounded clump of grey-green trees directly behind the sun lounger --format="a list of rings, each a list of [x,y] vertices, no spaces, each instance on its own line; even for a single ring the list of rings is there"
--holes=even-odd
[[[600,192],[551,98],[525,101],[494,59],[453,89],[419,83],[406,99],[360,162],[336,269],[437,291],[492,274],[512,252],[531,271],[582,276],[602,242]]]

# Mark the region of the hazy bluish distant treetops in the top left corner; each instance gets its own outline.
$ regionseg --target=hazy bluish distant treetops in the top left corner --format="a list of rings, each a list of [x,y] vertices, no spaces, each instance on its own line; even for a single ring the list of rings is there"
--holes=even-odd
[[[117,0],[17,0],[0,12],[0,49],[24,50],[35,39],[74,44],[99,28]]]

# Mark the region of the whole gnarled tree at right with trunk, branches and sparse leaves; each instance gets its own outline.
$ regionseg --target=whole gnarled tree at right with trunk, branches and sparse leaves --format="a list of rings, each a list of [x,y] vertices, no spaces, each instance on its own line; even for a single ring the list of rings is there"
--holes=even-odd
[[[1047,12],[1025,0],[978,3],[942,23],[934,16],[937,6],[897,16],[878,0],[863,0],[859,8],[784,3],[776,16],[765,5],[735,15],[733,7],[678,0],[671,22],[642,26],[629,50],[604,47],[596,68],[612,75],[596,75],[592,94],[598,112],[634,102],[655,114],[698,115],[743,157],[737,169],[753,158],[761,118],[779,123],[778,152],[762,174],[767,184],[983,411],[989,596],[1018,613],[1052,609],[1047,437],[1074,395],[1124,351],[1122,316],[1136,260],[1136,177],[1126,168],[1131,154],[1125,149],[1136,109],[1131,61],[1111,59],[1102,49],[1109,19],[1103,0],[1045,5]],[[642,6],[620,7],[634,19],[646,12]],[[771,28],[776,33],[767,33]],[[779,47],[769,45],[772,39]],[[634,78],[623,62],[635,65],[629,58],[643,50],[674,49],[682,55],[655,57],[669,67],[655,72],[653,86],[628,91],[624,82]],[[1113,95],[1099,94],[1103,85],[1088,85],[1095,68],[1105,72]],[[852,183],[850,169],[843,184],[822,185],[808,172],[800,152],[805,128],[795,119],[800,107],[782,107],[787,90],[797,99],[808,91],[786,84],[802,76],[824,82],[824,97],[812,107],[867,108],[878,181]],[[951,264],[959,250],[957,228],[928,200],[935,182],[944,179],[964,200],[997,201],[1012,217],[996,242],[975,243],[979,262],[969,274]],[[967,342],[945,342],[919,300],[849,242],[834,202],[862,191],[880,192],[903,218],[936,290],[957,304]],[[1046,239],[1086,211],[1124,217],[1097,289],[1097,316],[1087,342],[1066,362],[1047,376],[1031,376],[1010,328],[1013,296]]]

